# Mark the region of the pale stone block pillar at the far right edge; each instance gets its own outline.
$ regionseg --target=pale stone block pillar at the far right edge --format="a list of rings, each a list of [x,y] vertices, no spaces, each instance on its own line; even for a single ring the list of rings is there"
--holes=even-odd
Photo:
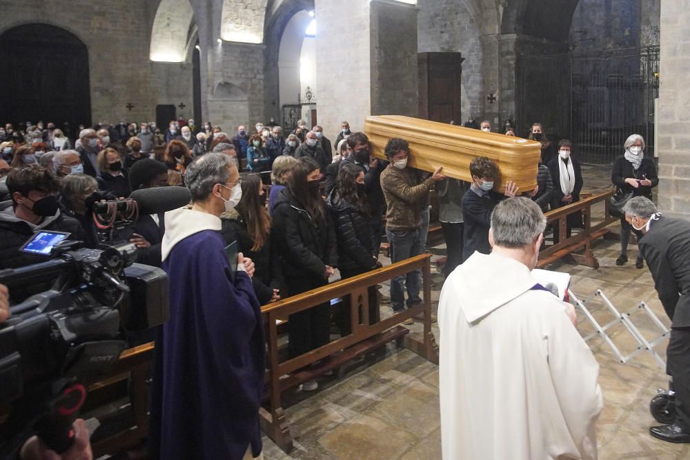
[[[658,206],[664,215],[690,220],[689,27],[690,10],[684,2],[661,1]]]

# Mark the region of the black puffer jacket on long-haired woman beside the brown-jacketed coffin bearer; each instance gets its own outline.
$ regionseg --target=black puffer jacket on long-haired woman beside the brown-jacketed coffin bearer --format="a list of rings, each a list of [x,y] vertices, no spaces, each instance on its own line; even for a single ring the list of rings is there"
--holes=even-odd
[[[352,203],[337,196],[337,189],[328,196],[328,209],[335,226],[340,270],[372,270],[376,267],[371,216]]]

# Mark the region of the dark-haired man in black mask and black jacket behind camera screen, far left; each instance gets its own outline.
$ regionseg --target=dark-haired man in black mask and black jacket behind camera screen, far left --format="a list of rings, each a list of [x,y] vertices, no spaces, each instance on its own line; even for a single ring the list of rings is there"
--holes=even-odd
[[[45,261],[41,256],[19,252],[37,230],[70,233],[70,239],[85,241],[79,221],[59,210],[59,184],[48,170],[28,165],[10,171],[7,187],[12,206],[0,212],[0,269],[17,268]]]

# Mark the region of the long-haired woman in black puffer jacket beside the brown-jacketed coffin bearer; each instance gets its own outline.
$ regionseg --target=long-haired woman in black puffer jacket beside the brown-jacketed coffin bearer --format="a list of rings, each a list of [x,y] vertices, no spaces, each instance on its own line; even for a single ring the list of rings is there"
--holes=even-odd
[[[375,239],[371,232],[373,219],[371,208],[364,194],[364,170],[354,163],[346,163],[338,172],[335,188],[328,197],[335,226],[335,239],[338,248],[338,269],[340,278],[355,277],[358,274],[380,268],[375,257]],[[369,323],[379,320],[379,306],[376,287],[368,288]],[[342,314],[337,323],[340,333],[351,333],[350,296],[343,299]]]

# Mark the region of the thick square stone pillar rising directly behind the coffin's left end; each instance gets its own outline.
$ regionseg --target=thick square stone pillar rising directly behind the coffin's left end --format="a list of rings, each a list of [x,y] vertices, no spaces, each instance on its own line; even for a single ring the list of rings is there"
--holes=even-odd
[[[318,118],[333,139],[344,120],[360,131],[370,114],[418,110],[416,8],[351,0],[346,12],[340,0],[315,1]]]

